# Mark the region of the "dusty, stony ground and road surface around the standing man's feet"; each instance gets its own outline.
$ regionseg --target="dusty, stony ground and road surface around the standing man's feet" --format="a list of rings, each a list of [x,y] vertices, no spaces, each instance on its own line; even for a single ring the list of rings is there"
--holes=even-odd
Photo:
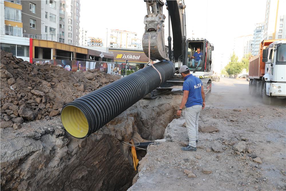
[[[167,126],[166,142],[149,145],[129,190],[285,190],[285,100],[263,105],[248,94],[245,79],[222,78],[206,104],[199,124],[219,131],[199,132],[198,150],[181,151],[188,141],[183,111]]]

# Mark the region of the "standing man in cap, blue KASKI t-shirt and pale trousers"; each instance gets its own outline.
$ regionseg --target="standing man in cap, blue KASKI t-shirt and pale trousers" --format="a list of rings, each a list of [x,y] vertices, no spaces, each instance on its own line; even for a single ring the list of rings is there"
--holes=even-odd
[[[183,98],[181,105],[177,111],[180,116],[182,109],[186,106],[185,118],[186,128],[189,137],[187,147],[182,147],[182,151],[196,151],[196,143],[198,142],[198,119],[200,111],[205,107],[205,95],[202,81],[190,74],[188,66],[183,65],[179,69],[180,74],[184,77]]]

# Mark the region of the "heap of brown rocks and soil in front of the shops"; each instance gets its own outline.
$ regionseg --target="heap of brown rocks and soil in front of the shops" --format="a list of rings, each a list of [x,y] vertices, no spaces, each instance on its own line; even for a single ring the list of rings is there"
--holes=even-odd
[[[120,76],[98,70],[72,73],[54,65],[33,65],[1,50],[1,128],[50,119],[62,107]]]

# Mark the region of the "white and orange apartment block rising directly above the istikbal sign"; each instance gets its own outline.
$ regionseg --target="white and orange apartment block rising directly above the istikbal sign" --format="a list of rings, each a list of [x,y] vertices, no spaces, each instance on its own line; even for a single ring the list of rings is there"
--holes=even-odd
[[[109,40],[109,46],[113,48],[142,49],[142,39],[138,38],[136,32],[111,29],[108,40]]]

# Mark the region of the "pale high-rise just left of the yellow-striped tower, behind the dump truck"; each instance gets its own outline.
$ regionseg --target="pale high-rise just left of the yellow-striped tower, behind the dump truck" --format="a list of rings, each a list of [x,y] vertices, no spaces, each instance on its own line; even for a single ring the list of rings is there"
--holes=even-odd
[[[259,53],[259,46],[264,38],[264,23],[257,23],[253,31],[253,39],[251,42],[251,54],[253,56]]]

